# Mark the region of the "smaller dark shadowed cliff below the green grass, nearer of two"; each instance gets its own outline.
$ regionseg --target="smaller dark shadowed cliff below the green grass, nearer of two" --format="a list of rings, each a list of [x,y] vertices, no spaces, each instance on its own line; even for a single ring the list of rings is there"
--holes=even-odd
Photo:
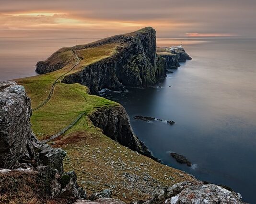
[[[121,105],[95,110],[89,118],[94,126],[102,129],[104,134],[112,140],[117,141],[131,150],[138,151],[155,161],[160,161],[153,157],[144,143],[134,135],[130,126],[130,118],[125,108]]]

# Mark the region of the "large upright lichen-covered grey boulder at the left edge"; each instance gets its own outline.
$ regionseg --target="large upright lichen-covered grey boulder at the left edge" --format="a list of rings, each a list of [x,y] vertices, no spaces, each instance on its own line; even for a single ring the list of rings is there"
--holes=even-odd
[[[12,168],[26,151],[31,112],[24,87],[0,81],[0,168]]]

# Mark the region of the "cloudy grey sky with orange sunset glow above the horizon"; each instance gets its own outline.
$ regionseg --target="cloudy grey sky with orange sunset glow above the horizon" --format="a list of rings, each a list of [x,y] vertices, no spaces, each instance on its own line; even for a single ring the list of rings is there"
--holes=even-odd
[[[256,36],[256,0],[0,0],[0,37]]]

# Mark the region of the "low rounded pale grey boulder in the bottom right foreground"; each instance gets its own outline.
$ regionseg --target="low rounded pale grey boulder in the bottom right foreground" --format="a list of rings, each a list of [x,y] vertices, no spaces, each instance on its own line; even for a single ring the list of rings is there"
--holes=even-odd
[[[144,204],[244,204],[239,193],[214,184],[182,182],[162,189]]]

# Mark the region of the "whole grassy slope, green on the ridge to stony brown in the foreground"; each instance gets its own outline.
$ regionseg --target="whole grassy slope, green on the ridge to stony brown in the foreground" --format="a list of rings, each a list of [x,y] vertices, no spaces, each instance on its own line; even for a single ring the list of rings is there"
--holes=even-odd
[[[46,100],[52,84],[58,77],[69,72],[80,71],[85,65],[97,62],[116,52],[118,44],[107,44],[95,48],[75,51],[83,58],[71,71],[77,60],[72,51],[65,48],[64,53],[57,53],[56,60],[67,60],[69,63],[62,69],[33,77],[17,79],[32,99],[32,108]],[[59,80],[60,81],[60,80]],[[31,118],[35,135],[43,140],[68,126],[78,115],[82,118],[61,137],[55,139],[55,147],[67,150],[64,161],[65,170],[75,170],[78,181],[88,193],[105,188],[114,190],[114,197],[126,202],[134,199],[149,198],[153,188],[170,186],[192,178],[185,173],[157,163],[137,154],[106,137],[94,127],[87,118],[94,108],[117,106],[118,104],[103,97],[87,93],[88,88],[80,84],[63,84],[58,82],[51,99],[43,107],[33,111]],[[126,173],[126,174],[125,174]],[[133,183],[127,173],[139,176]],[[147,174],[145,174],[147,173]],[[143,177],[151,176],[149,181]],[[159,187],[158,187],[159,188]]]

